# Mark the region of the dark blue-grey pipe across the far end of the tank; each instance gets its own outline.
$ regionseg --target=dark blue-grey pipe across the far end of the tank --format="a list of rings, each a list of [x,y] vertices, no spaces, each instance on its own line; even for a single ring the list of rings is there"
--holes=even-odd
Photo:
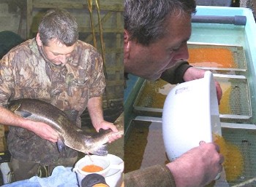
[[[233,25],[246,25],[246,16],[193,15],[192,23],[222,23]]]

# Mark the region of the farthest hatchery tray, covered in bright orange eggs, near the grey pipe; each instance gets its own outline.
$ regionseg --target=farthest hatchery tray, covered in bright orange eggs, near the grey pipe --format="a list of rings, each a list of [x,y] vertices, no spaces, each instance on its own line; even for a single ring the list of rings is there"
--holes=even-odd
[[[246,71],[246,57],[241,46],[188,43],[189,64],[208,70]]]

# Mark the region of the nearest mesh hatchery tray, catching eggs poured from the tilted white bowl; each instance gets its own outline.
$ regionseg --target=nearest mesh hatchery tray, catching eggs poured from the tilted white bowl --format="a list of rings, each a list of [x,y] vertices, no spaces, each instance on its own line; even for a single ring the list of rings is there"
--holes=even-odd
[[[151,167],[154,164],[166,164],[168,161],[162,139],[161,119],[147,121],[148,116],[137,117],[132,121],[127,140],[124,142],[125,172]],[[157,119],[157,118],[156,118]],[[214,187],[233,187],[246,183],[243,187],[255,187],[249,180],[256,173],[256,129],[254,124],[222,124],[222,141],[218,145],[225,156],[225,175],[228,180],[217,180]],[[223,148],[223,149],[222,149]],[[222,150],[224,150],[222,152]],[[238,186],[236,186],[238,187]]]

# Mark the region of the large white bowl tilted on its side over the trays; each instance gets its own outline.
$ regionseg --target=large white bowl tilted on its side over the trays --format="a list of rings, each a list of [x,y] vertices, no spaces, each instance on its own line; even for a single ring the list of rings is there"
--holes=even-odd
[[[170,90],[162,111],[165,150],[174,160],[199,146],[212,142],[212,132],[221,135],[219,106],[213,74],[178,84]]]

